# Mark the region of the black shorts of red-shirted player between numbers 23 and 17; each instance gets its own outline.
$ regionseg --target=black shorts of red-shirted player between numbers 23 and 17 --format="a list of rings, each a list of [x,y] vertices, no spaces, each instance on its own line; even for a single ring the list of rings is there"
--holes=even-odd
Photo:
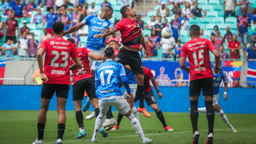
[[[81,79],[73,85],[73,101],[84,100],[84,90],[90,99],[97,98],[93,77]]]

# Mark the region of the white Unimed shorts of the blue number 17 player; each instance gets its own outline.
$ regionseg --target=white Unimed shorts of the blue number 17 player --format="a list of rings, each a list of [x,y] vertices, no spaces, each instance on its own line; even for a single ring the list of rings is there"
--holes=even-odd
[[[121,114],[126,114],[131,109],[124,96],[109,96],[99,99],[99,108],[102,113],[106,113],[110,105],[114,106]]]

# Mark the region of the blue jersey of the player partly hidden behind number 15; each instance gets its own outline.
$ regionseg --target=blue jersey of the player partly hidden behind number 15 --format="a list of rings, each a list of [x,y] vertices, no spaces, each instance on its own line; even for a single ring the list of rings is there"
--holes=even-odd
[[[213,68],[212,68],[212,74],[213,74],[213,84],[214,84],[214,95],[219,93],[219,88],[220,88],[220,84],[222,82],[227,83],[228,82],[228,78],[227,78],[227,74],[224,70],[219,71],[217,74],[215,74]]]

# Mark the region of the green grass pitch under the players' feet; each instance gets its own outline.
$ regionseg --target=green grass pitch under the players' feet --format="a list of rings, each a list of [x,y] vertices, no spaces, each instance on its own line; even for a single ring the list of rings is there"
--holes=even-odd
[[[224,110],[225,111],[225,110]],[[0,144],[32,144],[37,138],[37,116],[39,111],[1,110],[0,111]],[[64,144],[91,143],[95,118],[87,120],[90,112],[83,112],[84,127],[87,136],[75,139],[79,128],[75,119],[75,111],[66,111],[66,130],[63,136]],[[163,125],[150,112],[151,118],[139,114],[141,127],[146,137],[153,139],[154,144],[191,144],[192,126],[189,113],[163,113],[166,123],[174,131],[164,131]],[[117,120],[117,112],[113,112]],[[215,144],[256,144],[256,115],[255,114],[226,114],[230,123],[238,131],[232,133],[229,127],[215,114],[214,143]],[[56,144],[57,140],[57,111],[48,111],[44,129],[44,144]],[[206,144],[207,118],[205,113],[199,113],[199,144]],[[141,144],[141,138],[135,133],[131,122],[123,118],[120,129],[108,131],[108,137],[103,138],[99,133],[98,143],[101,144]]]

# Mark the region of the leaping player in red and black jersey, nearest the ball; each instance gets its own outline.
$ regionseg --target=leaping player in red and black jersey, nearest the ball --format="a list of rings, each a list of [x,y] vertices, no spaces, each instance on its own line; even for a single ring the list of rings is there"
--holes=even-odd
[[[135,75],[138,83],[137,92],[140,99],[138,111],[142,112],[145,116],[149,116],[150,114],[144,108],[144,70],[138,52],[140,45],[142,45],[145,50],[145,58],[148,57],[149,52],[147,51],[145,40],[141,33],[141,24],[134,19],[134,17],[137,16],[135,10],[127,4],[120,9],[120,13],[125,18],[115,25],[115,32],[120,31],[123,48],[120,49],[118,55],[115,57],[115,61],[131,67],[132,73]]]

